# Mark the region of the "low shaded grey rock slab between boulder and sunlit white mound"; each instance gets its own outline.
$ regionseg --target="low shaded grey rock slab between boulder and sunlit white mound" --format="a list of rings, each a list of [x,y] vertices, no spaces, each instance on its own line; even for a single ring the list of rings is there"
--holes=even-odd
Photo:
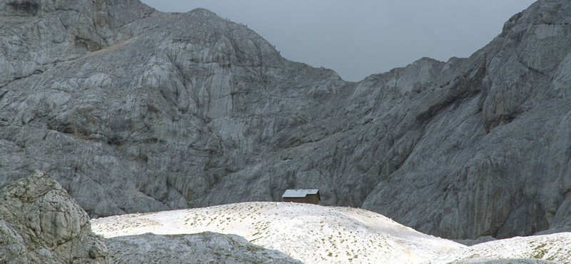
[[[129,235],[106,240],[115,264],[278,263],[303,264],[277,250],[249,243],[238,235]]]

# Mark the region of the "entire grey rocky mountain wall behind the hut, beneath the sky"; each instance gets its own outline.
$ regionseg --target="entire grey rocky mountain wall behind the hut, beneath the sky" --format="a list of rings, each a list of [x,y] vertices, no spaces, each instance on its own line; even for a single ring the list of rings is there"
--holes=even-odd
[[[319,188],[445,238],[569,230],[570,20],[540,0],[470,58],[350,83],[203,9],[4,1],[0,186],[48,171],[94,218]]]

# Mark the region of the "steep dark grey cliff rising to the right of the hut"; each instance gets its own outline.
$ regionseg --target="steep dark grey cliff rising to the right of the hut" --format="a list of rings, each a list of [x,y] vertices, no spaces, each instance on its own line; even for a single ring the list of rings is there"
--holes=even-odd
[[[363,207],[450,238],[569,228],[569,14],[568,1],[537,1],[410,94],[398,115],[415,124],[410,154]]]

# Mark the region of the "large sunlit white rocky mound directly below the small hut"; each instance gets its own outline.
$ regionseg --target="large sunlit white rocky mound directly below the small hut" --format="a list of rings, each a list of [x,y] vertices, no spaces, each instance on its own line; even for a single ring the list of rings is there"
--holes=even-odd
[[[211,231],[241,235],[304,263],[422,263],[465,248],[358,208],[235,203],[92,220],[106,238]]]

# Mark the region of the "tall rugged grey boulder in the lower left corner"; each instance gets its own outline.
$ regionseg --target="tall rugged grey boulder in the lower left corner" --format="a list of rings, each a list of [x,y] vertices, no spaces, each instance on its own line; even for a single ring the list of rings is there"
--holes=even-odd
[[[40,172],[0,191],[0,245],[0,263],[108,263],[85,211]]]

